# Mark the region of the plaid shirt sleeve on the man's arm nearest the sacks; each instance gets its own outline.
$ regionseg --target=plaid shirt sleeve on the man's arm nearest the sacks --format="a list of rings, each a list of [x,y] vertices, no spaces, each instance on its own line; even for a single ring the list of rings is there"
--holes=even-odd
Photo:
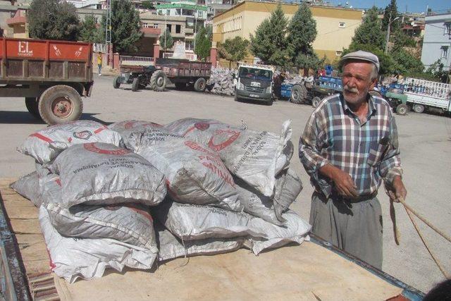
[[[328,164],[328,160],[321,156],[323,133],[320,123],[321,118],[316,115],[316,112],[312,113],[299,140],[299,159],[309,174],[311,183],[328,196],[330,183],[319,175],[319,169]]]

